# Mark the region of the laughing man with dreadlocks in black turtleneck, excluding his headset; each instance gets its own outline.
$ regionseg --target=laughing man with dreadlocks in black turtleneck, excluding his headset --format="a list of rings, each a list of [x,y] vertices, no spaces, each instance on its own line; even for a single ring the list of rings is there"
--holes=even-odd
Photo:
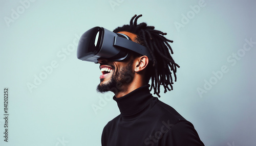
[[[102,75],[97,91],[112,91],[120,115],[109,121],[102,132],[103,146],[125,145],[204,145],[194,126],[175,109],[152,96],[159,97],[160,85],[164,92],[173,89],[176,69],[179,67],[170,56],[172,48],[161,31],[146,23],[137,25],[135,15],[130,25],[113,32],[128,36],[133,42],[145,46],[150,54],[128,51],[123,60],[99,57]],[[148,82],[151,79],[151,85]],[[151,86],[151,87],[150,87]]]

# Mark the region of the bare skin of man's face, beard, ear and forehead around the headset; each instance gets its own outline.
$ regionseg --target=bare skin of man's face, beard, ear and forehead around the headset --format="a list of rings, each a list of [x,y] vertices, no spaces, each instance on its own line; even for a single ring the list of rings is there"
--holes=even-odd
[[[136,41],[136,35],[129,32],[117,32],[128,36],[132,41]],[[116,98],[120,98],[131,91],[146,85],[144,80],[145,67],[148,64],[148,58],[141,56],[136,59],[135,52],[129,52],[129,57],[122,61],[111,61],[106,58],[99,58],[100,71],[100,84],[97,91],[106,92],[112,91],[115,93]],[[137,64],[136,64],[137,63]],[[134,66],[137,66],[136,68]],[[139,74],[135,74],[135,72]],[[135,78],[135,79],[134,79]]]

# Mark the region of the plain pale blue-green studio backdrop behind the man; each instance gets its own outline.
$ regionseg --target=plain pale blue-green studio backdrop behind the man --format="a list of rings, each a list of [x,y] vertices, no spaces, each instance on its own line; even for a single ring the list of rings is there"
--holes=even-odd
[[[135,14],[143,15],[138,23],[174,40],[181,67],[174,90],[161,90],[160,100],[191,121],[205,145],[254,145],[255,6],[238,0],[1,0],[0,145],[101,145],[103,127],[120,112],[113,93],[96,92],[99,65],[76,58],[78,39],[96,26],[129,24]]]

